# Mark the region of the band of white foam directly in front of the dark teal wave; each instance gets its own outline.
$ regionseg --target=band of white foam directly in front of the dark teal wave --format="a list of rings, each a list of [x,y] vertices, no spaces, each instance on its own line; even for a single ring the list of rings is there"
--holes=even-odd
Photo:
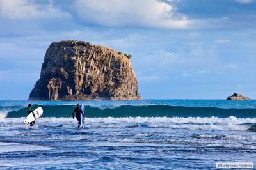
[[[24,118],[2,118],[0,122],[19,123]],[[72,118],[40,118],[36,122],[42,124],[70,125],[77,123],[76,119]],[[86,118],[86,127],[88,128],[129,128],[131,125],[142,126],[146,125],[150,128],[173,128],[173,129],[188,129],[188,130],[247,130],[250,128],[250,123],[255,123],[256,118],[236,118],[230,116],[228,118],[167,118],[167,117],[127,117],[127,118]],[[37,124],[38,124],[37,123]]]

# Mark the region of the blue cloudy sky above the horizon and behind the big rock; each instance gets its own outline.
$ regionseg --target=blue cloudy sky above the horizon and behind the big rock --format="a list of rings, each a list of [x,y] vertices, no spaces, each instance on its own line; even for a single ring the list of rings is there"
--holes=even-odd
[[[0,100],[27,100],[52,42],[132,55],[143,99],[256,99],[256,0],[0,0]]]

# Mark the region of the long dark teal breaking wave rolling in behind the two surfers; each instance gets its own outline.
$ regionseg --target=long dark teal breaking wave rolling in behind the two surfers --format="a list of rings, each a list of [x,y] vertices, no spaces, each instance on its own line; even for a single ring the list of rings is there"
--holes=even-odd
[[[75,108],[73,105],[34,105],[42,107],[44,114],[42,117],[68,118],[72,116]],[[1,107],[0,118],[20,118],[26,117],[26,107]],[[118,106],[118,107],[92,107],[86,106],[87,118],[122,118],[122,117],[216,117],[227,118],[235,116],[236,118],[255,118],[256,109],[223,109],[216,107],[182,107],[170,105],[144,105],[144,106]]]

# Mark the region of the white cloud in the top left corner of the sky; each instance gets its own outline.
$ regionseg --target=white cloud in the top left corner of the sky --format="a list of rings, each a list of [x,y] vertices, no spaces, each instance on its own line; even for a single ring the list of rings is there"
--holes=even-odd
[[[54,8],[51,1],[47,5],[38,5],[31,0],[0,0],[0,15],[8,19],[71,17],[69,13]]]

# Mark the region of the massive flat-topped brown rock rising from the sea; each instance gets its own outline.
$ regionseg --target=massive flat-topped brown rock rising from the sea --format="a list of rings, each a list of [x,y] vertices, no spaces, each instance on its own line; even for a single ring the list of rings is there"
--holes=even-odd
[[[139,100],[132,64],[122,53],[88,42],[51,43],[29,100]]]

